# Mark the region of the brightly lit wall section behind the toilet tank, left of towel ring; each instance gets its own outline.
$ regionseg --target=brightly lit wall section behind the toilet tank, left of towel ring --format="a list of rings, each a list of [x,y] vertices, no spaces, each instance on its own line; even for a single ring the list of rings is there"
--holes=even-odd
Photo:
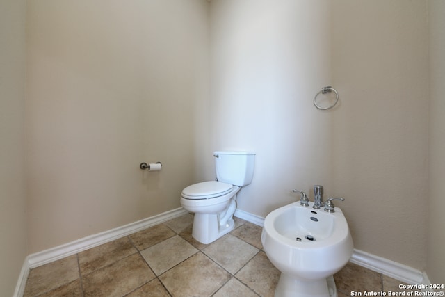
[[[330,83],[329,11],[328,1],[211,3],[209,141],[257,153],[253,182],[238,194],[245,211],[266,216],[296,199],[292,188],[329,191],[330,115],[312,104]]]

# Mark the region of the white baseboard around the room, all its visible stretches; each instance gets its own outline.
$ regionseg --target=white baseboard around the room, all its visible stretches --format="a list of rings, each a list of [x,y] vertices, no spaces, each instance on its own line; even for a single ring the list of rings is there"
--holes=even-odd
[[[103,243],[107,243],[122,236],[127,236],[140,230],[144,230],[147,227],[152,227],[167,220],[171,220],[172,218],[183,216],[184,214],[187,214],[187,211],[180,207],[178,209],[166,211],[163,214],[139,220],[135,223],[117,227],[113,230],[90,235],[84,237],[83,239],[72,241],[71,243],[65,243],[62,246],[57,246],[55,248],[50,248],[49,250],[44,250],[42,252],[37,252],[35,254],[29,255],[28,257],[26,257],[22,266],[22,271],[19,275],[19,280],[17,281],[15,294],[13,296],[19,297],[23,295],[26,285],[26,279],[28,278],[29,269],[31,268],[54,262],[58,259],[74,255],[78,252],[82,252],[83,250],[94,248],[95,246],[100,246]],[[236,209],[234,216],[255,225],[259,225],[261,227],[264,226],[264,218],[262,218],[261,216],[250,214],[247,211]],[[368,252],[363,252],[362,250],[355,249],[350,262],[353,262],[365,268],[369,268],[373,271],[377,271],[378,273],[382,273],[396,280],[400,280],[401,282],[406,282],[407,284],[429,284],[428,276],[426,275],[426,273],[422,273],[419,270],[391,261],[389,259],[378,257],[369,254]]]

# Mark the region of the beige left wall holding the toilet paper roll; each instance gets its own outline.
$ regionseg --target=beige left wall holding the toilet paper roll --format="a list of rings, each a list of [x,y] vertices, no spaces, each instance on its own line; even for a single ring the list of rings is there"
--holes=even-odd
[[[207,99],[207,6],[28,1],[29,252],[180,207]]]

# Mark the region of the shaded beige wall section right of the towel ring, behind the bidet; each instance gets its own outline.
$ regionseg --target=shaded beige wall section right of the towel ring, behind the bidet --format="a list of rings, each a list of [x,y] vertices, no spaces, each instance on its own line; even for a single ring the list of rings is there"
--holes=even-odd
[[[356,248],[424,270],[427,2],[334,2],[333,84],[342,105],[327,144],[333,190],[350,198],[343,209]]]

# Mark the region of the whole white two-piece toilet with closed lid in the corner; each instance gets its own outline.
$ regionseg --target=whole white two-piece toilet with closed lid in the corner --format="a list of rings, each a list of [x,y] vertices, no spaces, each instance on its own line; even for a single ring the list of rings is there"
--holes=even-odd
[[[184,188],[181,205],[195,213],[192,236],[211,243],[234,229],[236,193],[252,182],[253,152],[214,152],[216,181]]]

